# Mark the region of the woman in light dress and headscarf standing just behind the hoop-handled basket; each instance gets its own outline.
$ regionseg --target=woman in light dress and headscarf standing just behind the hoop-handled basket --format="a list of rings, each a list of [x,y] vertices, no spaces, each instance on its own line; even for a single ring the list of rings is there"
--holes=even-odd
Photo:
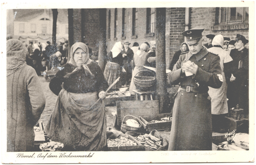
[[[148,45],[143,43],[140,45],[140,50],[138,50],[135,54],[134,54],[134,58],[133,58],[133,72],[132,72],[132,78],[131,78],[131,86],[129,89],[129,92],[131,93],[131,95],[135,95],[135,93],[133,92],[134,89],[136,89],[135,85],[134,85],[134,76],[140,71],[140,70],[144,70],[145,67],[143,67],[146,62],[147,62],[147,54],[148,54]]]

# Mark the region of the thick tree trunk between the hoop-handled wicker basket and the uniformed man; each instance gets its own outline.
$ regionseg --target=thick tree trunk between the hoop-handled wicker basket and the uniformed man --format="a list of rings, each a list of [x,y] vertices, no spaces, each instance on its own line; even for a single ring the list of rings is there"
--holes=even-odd
[[[159,113],[165,113],[169,112],[166,89],[166,8],[157,8],[156,12],[157,99],[159,100]]]

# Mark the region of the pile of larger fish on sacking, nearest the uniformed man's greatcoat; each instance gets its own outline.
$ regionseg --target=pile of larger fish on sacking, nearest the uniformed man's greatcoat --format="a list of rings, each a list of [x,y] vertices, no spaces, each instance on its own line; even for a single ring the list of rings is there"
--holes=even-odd
[[[135,140],[137,140],[142,145],[145,145],[145,148],[150,148],[153,150],[157,150],[162,146],[161,140],[150,134],[139,135],[138,137],[135,137]]]

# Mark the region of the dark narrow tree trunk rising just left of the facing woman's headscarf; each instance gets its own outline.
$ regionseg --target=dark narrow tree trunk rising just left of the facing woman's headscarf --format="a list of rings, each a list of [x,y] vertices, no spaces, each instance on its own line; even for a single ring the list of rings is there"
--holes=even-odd
[[[71,46],[74,44],[74,29],[73,29],[73,9],[67,9],[68,12],[68,56],[67,61],[70,60],[70,49]]]

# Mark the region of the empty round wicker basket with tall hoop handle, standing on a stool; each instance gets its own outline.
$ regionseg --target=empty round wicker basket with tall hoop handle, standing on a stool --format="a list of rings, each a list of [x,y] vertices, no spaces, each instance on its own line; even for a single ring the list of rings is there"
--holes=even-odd
[[[138,73],[148,71],[152,73],[149,70],[140,70]],[[136,75],[138,74],[136,73]],[[142,91],[149,91],[152,89],[152,87],[155,86],[157,79],[154,77],[148,77],[148,76],[134,76],[134,85],[137,89],[140,89]],[[154,73],[152,73],[154,75]]]

